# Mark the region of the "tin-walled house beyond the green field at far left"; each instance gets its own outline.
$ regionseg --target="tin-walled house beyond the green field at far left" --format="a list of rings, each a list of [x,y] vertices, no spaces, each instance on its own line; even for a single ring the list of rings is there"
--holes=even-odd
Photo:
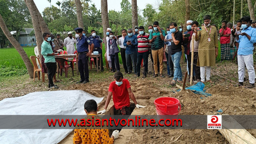
[[[12,35],[16,35],[16,31],[11,31]],[[33,28],[25,28],[19,32],[18,42],[20,46],[34,46],[37,45],[35,39],[35,32]]]

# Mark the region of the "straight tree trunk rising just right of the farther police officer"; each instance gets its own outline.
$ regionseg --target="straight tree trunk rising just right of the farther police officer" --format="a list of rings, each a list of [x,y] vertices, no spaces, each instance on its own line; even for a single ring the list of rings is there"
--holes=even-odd
[[[103,35],[105,38],[105,51],[107,50],[106,46],[106,31],[109,27],[109,15],[108,15],[108,0],[101,0],[101,20],[102,20],[102,27],[103,27]]]

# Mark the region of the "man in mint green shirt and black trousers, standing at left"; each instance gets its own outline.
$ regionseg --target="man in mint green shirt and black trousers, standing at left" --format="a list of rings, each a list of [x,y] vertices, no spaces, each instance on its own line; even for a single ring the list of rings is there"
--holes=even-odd
[[[41,45],[41,54],[45,58],[45,65],[48,69],[48,87],[50,88],[59,88],[53,84],[53,76],[56,72],[57,66],[55,61],[55,55],[57,51],[53,52],[52,46],[50,45],[50,41],[52,40],[49,33],[43,34],[44,42]]]

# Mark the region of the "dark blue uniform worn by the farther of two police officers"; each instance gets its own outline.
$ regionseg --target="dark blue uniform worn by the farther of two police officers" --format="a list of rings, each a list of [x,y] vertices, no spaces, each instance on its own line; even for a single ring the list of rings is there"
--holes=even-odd
[[[101,49],[102,41],[98,35],[96,35],[95,37],[90,36],[89,39],[94,44],[93,51],[94,52],[97,51],[97,52],[99,52],[99,54],[101,54],[101,71],[103,71],[104,68],[103,68],[102,49]],[[94,57],[93,59],[94,59],[94,61],[96,61],[96,57]],[[99,63],[99,61],[98,61],[98,63]],[[97,62],[95,62],[95,65],[97,67]]]

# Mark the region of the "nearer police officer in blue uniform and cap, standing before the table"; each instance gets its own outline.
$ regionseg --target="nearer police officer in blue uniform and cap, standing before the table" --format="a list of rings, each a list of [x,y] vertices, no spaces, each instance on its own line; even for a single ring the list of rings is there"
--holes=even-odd
[[[76,32],[76,59],[78,60],[78,70],[80,72],[81,80],[77,83],[88,83],[89,82],[89,69],[88,59],[93,52],[94,44],[90,39],[82,34],[83,29],[77,27],[74,29]]]

